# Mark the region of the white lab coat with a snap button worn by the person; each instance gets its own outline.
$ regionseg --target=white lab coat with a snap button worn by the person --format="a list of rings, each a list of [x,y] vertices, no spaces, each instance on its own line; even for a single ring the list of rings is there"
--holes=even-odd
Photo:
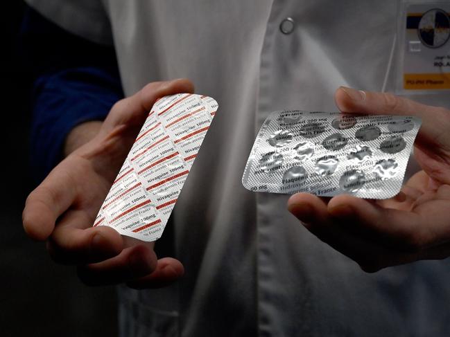
[[[126,95],[184,77],[219,103],[161,239],[186,275],[161,290],[121,287],[121,336],[450,336],[448,261],[364,273],[300,225],[288,196],[241,185],[271,111],[336,111],[340,85],[394,89],[399,1],[28,2],[113,43]],[[450,107],[448,94],[415,99]]]

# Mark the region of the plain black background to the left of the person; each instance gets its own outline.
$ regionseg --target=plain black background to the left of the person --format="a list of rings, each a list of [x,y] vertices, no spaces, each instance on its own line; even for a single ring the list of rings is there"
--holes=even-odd
[[[21,210],[36,183],[28,165],[31,74],[17,52],[25,5],[7,0],[2,8],[0,336],[116,336],[114,287],[84,286],[74,268],[55,264],[22,229]]]

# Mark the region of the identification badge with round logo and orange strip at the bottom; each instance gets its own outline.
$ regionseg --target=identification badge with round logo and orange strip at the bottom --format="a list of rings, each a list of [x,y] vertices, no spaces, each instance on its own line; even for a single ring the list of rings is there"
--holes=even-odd
[[[401,13],[399,91],[450,90],[450,1],[404,1]]]

